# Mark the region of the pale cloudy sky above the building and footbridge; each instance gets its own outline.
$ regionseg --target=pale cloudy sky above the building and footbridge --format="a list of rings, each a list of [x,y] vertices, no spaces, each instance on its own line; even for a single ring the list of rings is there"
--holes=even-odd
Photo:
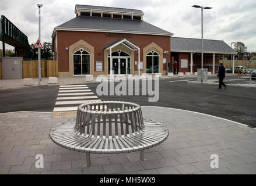
[[[1,0],[0,14],[22,30],[30,44],[38,38],[38,2],[44,4],[42,42],[51,42],[53,28],[75,17],[75,4],[141,9],[146,22],[174,33],[175,37],[201,38],[201,11],[191,8],[201,5],[213,7],[204,12],[205,38],[224,40],[229,45],[241,41],[248,52],[256,52],[255,0]]]

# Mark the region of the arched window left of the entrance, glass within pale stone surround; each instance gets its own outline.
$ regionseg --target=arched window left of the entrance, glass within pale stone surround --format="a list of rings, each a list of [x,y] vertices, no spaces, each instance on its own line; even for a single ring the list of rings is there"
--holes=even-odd
[[[74,76],[90,74],[90,53],[82,48],[73,53],[73,74]]]

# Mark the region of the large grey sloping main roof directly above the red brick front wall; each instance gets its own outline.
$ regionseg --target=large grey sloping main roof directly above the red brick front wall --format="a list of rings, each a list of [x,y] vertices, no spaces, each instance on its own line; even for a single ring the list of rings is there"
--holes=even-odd
[[[149,24],[141,20],[111,19],[104,17],[78,16],[55,28],[57,30],[58,28],[63,28],[59,30],[65,30],[65,28],[71,28],[71,30],[75,30],[75,28],[78,28],[79,30],[100,30],[112,33],[143,33],[151,35],[173,35],[172,33],[169,33],[169,31],[165,31],[159,27],[153,26],[152,24]]]

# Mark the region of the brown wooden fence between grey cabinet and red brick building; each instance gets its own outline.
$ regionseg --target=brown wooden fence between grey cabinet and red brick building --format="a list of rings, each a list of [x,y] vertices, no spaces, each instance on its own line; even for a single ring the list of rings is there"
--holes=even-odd
[[[38,60],[22,62],[23,78],[38,77]],[[58,77],[57,60],[41,60],[41,77]]]

